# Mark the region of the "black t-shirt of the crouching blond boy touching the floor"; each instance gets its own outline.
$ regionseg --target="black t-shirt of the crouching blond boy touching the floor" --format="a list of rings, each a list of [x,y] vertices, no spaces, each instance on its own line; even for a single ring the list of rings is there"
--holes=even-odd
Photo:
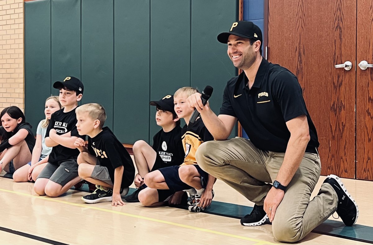
[[[101,166],[107,167],[113,183],[114,171],[120,166],[124,167],[120,187],[126,188],[134,182],[135,166],[132,158],[108,127],[102,128],[102,131],[93,138],[88,136],[88,151],[98,158]]]

